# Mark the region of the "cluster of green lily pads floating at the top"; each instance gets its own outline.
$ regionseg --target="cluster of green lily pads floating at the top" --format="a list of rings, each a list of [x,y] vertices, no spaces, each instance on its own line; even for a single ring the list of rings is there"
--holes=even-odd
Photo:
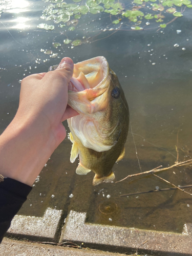
[[[189,0],[134,0],[129,6],[125,5],[123,1],[121,3],[120,0],[118,2],[115,0],[71,0],[71,3],[69,3],[70,0],[68,0],[68,3],[63,2],[63,0],[44,1],[51,3],[42,12],[41,19],[49,20],[50,23],[52,21],[55,24],[59,24],[59,28],[68,26],[67,31],[69,33],[76,29],[75,26],[80,22],[83,15],[87,15],[88,13],[90,15],[103,13],[102,15],[105,15],[105,17],[107,14],[110,14],[109,22],[114,27],[102,29],[103,32],[106,30],[118,30],[123,24],[126,25],[126,28],[127,26],[130,28],[128,30],[139,31],[145,29],[146,26],[148,27],[148,25],[164,29],[176,18],[183,16],[186,7],[192,8],[191,1]],[[185,8],[182,8],[183,6]],[[148,13],[146,13],[147,7]],[[171,15],[173,15],[173,20],[169,20],[166,24],[164,18],[170,17]],[[151,21],[148,22],[149,20]],[[54,25],[48,25],[46,23],[41,23],[37,27],[46,30],[54,29]],[[65,39],[64,44],[78,46],[82,43],[90,42],[87,39],[74,39]],[[59,45],[54,44],[53,47],[59,47]]]

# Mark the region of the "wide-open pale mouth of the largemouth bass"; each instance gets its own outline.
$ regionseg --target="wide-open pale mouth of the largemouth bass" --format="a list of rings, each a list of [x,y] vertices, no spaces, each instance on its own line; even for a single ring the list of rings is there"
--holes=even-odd
[[[103,56],[78,62],[74,64],[73,76],[69,82],[68,90],[78,93],[84,90],[91,91],[90,89],[104,88],[108,75],[109,64]]]

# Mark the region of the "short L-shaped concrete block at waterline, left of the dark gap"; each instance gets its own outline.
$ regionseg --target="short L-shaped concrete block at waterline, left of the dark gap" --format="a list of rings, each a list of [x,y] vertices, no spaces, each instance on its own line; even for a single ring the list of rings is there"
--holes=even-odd
[[[57,228],[61,214],[62,210],[47,208],[41,218],[16,215],[7,234],[12,237],[32,238],[38,241],[55,241],[58,239]]]

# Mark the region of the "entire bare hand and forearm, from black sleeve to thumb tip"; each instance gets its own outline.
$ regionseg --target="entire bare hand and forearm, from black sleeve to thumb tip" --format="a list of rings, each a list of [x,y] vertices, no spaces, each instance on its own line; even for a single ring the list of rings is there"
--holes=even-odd
[[[0,136],[1,174],[32,185],[66,137],[62,121],[78,113],[67,106],[73,61],[63,58],[55,71],[22,80],[18,111]]]

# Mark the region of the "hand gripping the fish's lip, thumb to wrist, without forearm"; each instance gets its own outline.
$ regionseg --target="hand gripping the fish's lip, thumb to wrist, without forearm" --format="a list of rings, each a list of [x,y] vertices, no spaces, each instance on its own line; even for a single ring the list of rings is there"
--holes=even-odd
[[[78,113],[67,105],[68,83],[73,75],[73,61],[63,58],[55,71],[27,76],[22,80],[17,117],[35,119],[55,135],[55,147],[66,137],[62,121]]]

